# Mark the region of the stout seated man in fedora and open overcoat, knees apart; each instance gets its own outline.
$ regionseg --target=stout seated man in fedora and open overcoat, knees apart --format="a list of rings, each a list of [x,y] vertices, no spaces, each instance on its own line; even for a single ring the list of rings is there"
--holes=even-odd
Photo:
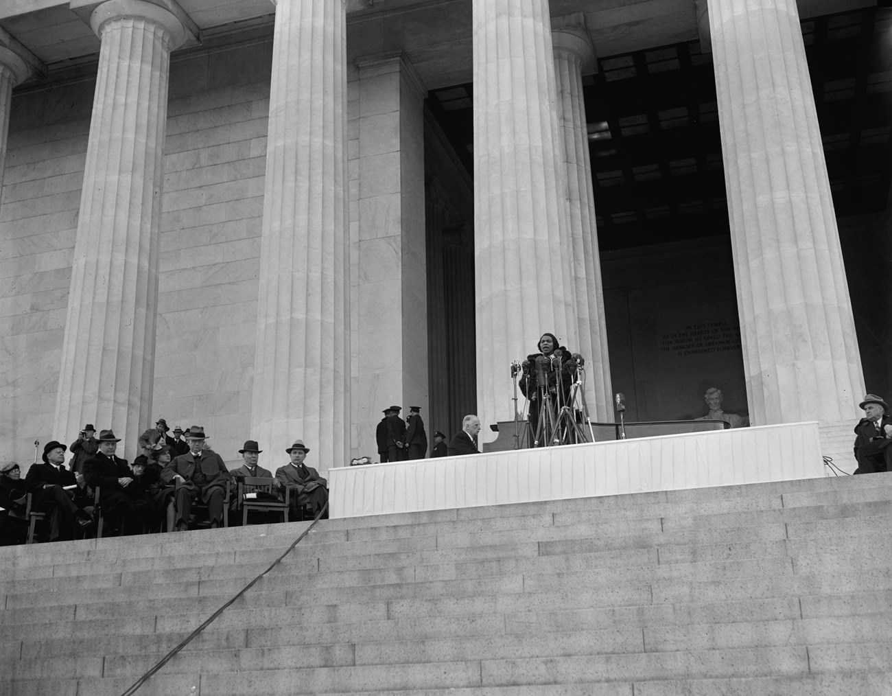
[[[192,503],[198,498],[208,506],[211,529],[216,529],[224,521],[223,501],[232,476],[217,452],[204,449],[204,428],[189,428],[189,452],[171,460],[161,471],[161,480],[166,484],[179,484],[176,489],[177,531],[189,528],[189,515]]]

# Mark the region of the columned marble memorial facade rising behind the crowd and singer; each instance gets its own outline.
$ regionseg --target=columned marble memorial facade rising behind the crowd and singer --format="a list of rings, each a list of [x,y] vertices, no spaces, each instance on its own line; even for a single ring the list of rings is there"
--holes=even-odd
[[[265,466],[523,407],[851,423],[892,388],[892,11],[859,0],[0,4],[0,433]],[[120,451],[119,451],[120,453]]]

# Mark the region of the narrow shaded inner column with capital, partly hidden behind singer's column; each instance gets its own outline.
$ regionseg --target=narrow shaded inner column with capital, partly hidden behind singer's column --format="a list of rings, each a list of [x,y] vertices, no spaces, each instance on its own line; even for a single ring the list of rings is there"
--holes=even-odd
[[[552,21],[555,79],[558,86],[558,123],[564,137],[567,181],[567,228],[573,244],[579,343],[567,346],[586,360],[585,397],[593,420],[610,421],[613,394],[604,319],[604,288],[595,195],[591,184],[588,125],[582,98],[582,74],[595,70],[595,52],[582,14]]]

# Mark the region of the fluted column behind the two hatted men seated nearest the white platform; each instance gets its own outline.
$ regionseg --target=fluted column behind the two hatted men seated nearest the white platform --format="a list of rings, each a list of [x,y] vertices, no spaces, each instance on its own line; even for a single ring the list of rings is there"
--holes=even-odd
[[[344,0],[278,0],[251,433],[320,470],[350,459],[345,37]]]

